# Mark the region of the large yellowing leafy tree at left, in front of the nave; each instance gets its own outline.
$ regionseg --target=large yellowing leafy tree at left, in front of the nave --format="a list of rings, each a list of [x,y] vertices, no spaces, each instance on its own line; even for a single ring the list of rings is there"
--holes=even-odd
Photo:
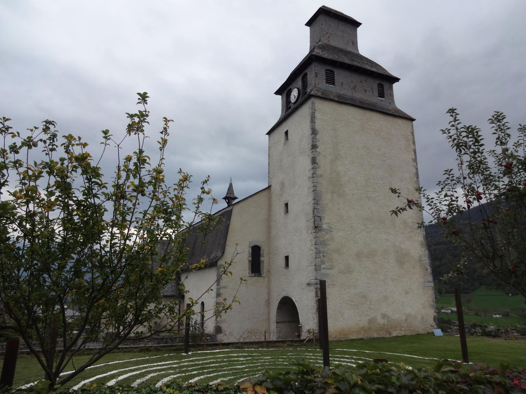
[[[126,338],[177,330],[193,313],[180,312],[179,299],[161,292],[181,283],[186,230],[194,223],[213,228],[217,218],[203,206],[216,200],[206,179],[187,204],[191,176],[182,170],[167,184],[171,121],[164,118],[157,157],[148,156],[148,95],[138,96],[139,110],[126,114],[122,136],[102,131],[97,158],[81,137],[60,137],[53,121],[21,133],[0,119],[0,330],[25,342],[50,390]],[[123,153],[130,143],[133,152]],[[101,160],[108,154],[116,168],[105,176]],[[225,300],[214,312],[231,305]],[[99,346],[87,361],[72,363],[93,342]],[[68,365],[74,370],[65,374]]]

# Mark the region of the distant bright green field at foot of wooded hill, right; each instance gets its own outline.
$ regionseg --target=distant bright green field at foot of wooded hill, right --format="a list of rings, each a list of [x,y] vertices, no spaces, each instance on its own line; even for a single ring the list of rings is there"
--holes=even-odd
[[[442,294],[436,300],[437,310],[442,307],[455,307],[454,294]],[[526,304],[522,296],[509,296],[501,290],[479,288],[470,294],[462,294],[464,321],[478,322],[488,326],[507,327],[526,325]],[[508,313],[507,318],[493,318],[493,313]],[[438,317],[457,320],[454,313],[438,313]]]

